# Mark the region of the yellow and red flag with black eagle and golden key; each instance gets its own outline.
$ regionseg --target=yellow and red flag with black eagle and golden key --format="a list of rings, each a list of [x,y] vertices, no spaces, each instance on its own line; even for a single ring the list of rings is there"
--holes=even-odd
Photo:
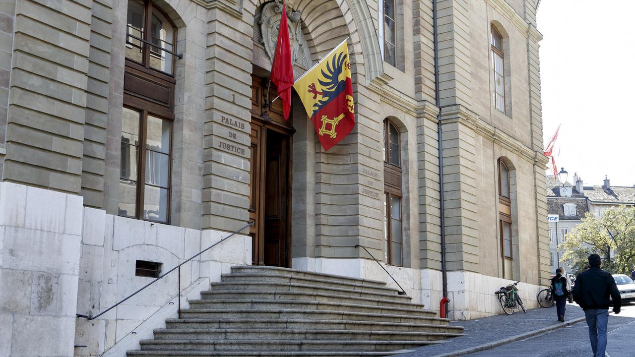
[[[355,113],[346,41],[295,81],[293,88],[302,99],[324,150],[330,149],[351,132]]]

